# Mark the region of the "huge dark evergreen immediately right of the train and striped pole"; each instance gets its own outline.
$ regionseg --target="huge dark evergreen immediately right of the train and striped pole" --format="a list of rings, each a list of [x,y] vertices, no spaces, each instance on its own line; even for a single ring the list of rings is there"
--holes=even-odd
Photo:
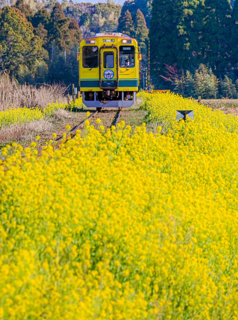
[[[195,70],[203,62],[201,37],[203,3],[200,0],[154,0],[150,21],[151,75],[155,83],[164,63]]]

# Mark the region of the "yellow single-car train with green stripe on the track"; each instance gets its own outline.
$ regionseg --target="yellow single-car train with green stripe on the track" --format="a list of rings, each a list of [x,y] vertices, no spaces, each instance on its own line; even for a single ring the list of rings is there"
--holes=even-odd
[[[89,108],[131,107],[139,85],[141,50],[119,32],[97,33],[78,48],[79,86]]]

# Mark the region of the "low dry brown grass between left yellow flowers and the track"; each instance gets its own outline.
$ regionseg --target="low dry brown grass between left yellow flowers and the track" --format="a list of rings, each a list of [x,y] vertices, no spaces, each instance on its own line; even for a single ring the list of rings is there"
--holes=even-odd
[[[0,143],[32,140],[37,134],[49,132],[52,128],[50,121],[35,120],[26,124],[11,124],[0,129]]]

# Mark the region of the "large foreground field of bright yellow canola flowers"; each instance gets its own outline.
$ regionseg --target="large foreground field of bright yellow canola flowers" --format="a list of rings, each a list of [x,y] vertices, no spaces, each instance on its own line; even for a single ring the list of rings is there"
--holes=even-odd
[[[1,319],[237,319],[237,134],[196,119],[166,136],[87,121],[39,158],[15,144],[0,167]]]

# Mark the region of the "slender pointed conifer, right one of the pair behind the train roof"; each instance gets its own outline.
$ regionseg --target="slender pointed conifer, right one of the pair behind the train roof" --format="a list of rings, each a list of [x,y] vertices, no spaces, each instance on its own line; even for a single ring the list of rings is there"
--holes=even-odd
[[[145,41],[148,38],[149,30],[146,27],[146,22],[143,13],[140,9],[137,10],[134,18],[135,38],[142,49],[146,48]]]

